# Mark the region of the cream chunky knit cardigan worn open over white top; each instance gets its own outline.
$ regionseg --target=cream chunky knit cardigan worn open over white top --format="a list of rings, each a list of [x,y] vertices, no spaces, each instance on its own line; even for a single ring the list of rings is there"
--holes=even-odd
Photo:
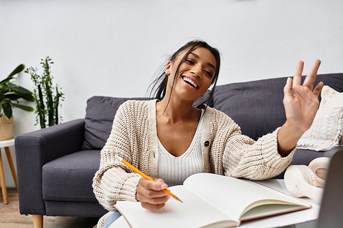
[[[291,162],[295,149],[281,157],[276,129],[254,141],[241,134],[239,126],[226,114],[211,107],[204,112],[202,155],[204,173],[246,179],[268,179],[281,173]],[[209,145],[206,147],[205,143]],[[158,177],[156,100],[126,101],[117,110],[113,129],[101,151],[100,167],[93,179],[95,197],[106,210],[116,211],[117,201],[137,201],[141,178],[115,159],[123,157],[150,177]],[[99,220],[104,225],[106,214]]]

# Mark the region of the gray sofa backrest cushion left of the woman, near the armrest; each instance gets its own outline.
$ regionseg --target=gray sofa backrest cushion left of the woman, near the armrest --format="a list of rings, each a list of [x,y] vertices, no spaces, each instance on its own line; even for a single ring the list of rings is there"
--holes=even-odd
[[[113,125],[118,107],[129,99],[144,98],[91,97],[87,101],[82,149],[102,149]]]

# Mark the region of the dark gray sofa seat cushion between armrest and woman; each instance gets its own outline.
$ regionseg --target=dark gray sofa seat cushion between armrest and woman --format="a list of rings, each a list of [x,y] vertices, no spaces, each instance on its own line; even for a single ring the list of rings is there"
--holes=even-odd
[[[45,201],[97,202],[92,181],[99,169],[100,151],[78,151],[43,166]]]

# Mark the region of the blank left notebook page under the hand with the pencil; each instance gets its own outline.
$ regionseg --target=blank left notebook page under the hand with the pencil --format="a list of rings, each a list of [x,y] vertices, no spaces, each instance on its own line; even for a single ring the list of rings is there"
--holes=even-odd
[[[141,207],[141,203],[137,202],[120,201],[117,204],[119,210],[126,215],[132,227],[203,227],[220,220],[231,219],[227,214],[201,200],[197,194],[189,191],[184,186],[173,186],[169,190],[183,203],[171,197],[165,207],[156,211],[146,210]],[[126,204],[126,210],[121,210],[120,204]],[[135,219],[130,219],[131,216],[135,217]],[[154,220],[154,223],[152,223],[152,220]],[[233,222],[230,226],[235,226],[237,223]]]

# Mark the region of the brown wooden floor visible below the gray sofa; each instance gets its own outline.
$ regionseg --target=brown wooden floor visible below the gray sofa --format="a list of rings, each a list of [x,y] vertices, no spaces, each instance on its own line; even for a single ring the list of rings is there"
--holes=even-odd
[[[16,188],[7,188],[8,204],[3,203],[0,192],[0,228],[32,228],[32,216],[19,213],[19,197]],[[44,228],[94,227],[99,218],[44,216]]]

